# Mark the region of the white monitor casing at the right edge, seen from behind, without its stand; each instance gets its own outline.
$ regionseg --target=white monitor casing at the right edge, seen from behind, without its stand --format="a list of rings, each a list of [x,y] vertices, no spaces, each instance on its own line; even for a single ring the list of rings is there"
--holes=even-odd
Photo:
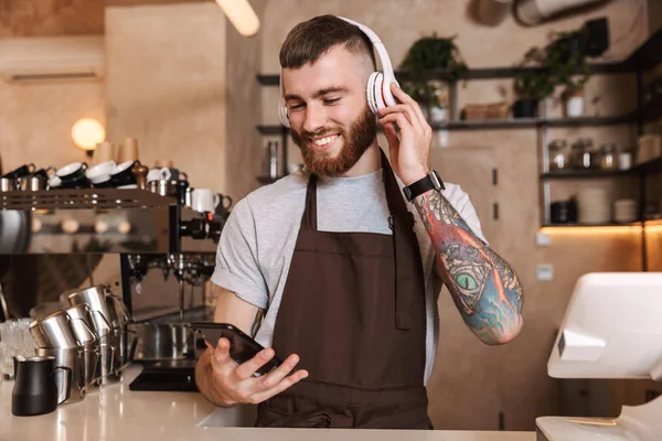
[[[555,378],[662,380],[662,272],[581,276],[547,372]]]

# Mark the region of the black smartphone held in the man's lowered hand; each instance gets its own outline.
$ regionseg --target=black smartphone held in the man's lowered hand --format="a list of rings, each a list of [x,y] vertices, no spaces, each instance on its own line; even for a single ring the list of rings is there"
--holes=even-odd
[[[216,347],[218,338],[227,338],[229,341],[229,356],[237,364],[248,362],[264,349],[263,345],[229,323],[197,322],[191,323],[190,326],[214,347]],[[257,369],[257,374],[268,374],[281,364],[282,361],[275,355],[268,363]]]

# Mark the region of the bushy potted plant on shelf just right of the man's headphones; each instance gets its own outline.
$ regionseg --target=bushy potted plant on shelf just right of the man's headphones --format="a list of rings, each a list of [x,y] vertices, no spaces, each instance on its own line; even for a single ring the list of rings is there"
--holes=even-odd
[[[424,36],[409,47],[399,67],[406,75],[403,90],[434,122],[446,119],[444,87],[435,78],[442,76],[455,82],[465,77],[468,71],[455,40],[456,36]]]

